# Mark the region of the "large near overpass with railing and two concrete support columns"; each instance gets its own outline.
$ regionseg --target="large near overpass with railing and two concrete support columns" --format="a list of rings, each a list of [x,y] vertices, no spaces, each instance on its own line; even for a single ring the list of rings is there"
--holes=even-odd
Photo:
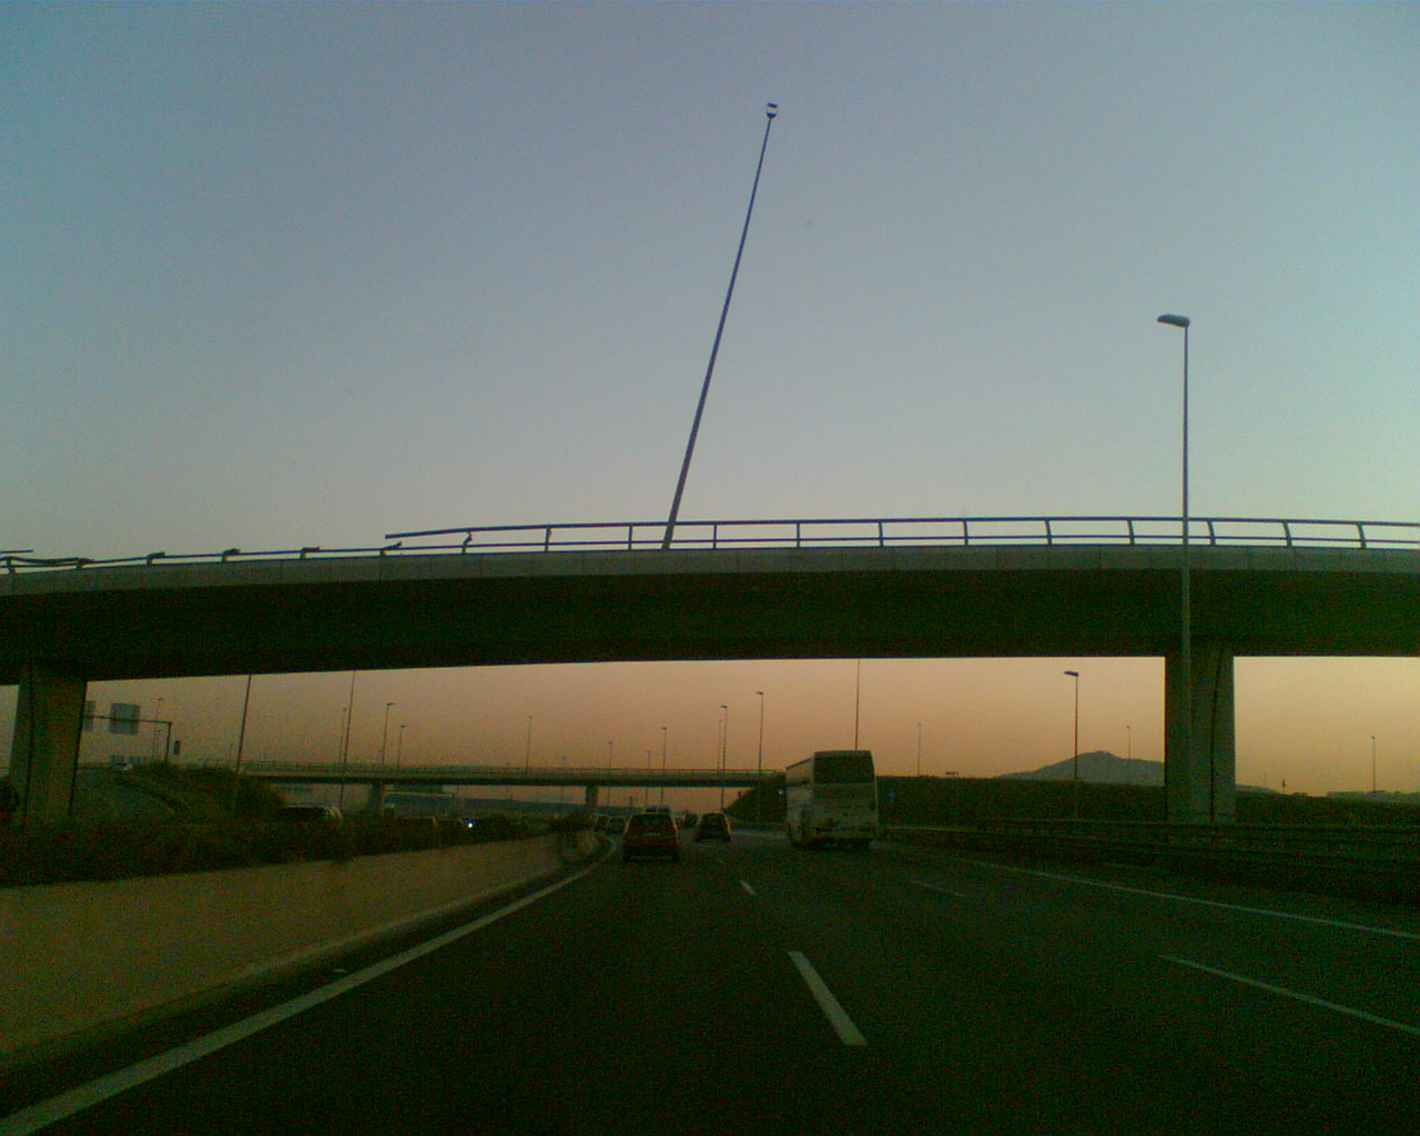
[[[1420,656],[1420,524],[1177,517],[515,525],[364,550],[0,555],[28,819],[89,680],[611,660],[1156,656],[1169,816],[1228,821],[1233,660]],[[1187,686],[1186,686],[1187,683]],[[1184,692],[1193,707],[1184,751]],[[585,784],[585,782],[584,782]]]

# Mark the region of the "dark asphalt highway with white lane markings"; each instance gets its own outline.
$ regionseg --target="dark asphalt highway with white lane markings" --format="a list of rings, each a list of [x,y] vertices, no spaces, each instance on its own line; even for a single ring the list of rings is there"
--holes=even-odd
[[[0,1133],[1420,1132],[1414,910],[741,831],[456,933],[33,1069]]]

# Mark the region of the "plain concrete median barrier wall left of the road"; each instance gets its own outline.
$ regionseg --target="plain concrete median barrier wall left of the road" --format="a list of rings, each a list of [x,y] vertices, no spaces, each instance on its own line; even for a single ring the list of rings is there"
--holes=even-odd
[[[591,834],[0,890],[0,1069],[562,870]]]

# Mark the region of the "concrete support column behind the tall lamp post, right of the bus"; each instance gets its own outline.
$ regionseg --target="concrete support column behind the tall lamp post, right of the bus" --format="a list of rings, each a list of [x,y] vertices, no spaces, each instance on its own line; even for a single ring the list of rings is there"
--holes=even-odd
[[[1237,724],[1233,701],[1233,650],[1225,643],[1193,643],[1193,730],[1183,751],[1183,667],[1164,656],[1163,778],[1169,821],[1233,824],[1237,795]]]

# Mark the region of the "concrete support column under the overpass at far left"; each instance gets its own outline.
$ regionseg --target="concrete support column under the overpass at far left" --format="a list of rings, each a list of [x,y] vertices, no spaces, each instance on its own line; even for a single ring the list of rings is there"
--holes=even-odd
[[[43,663],[20,672],[10,744],[10,781],[20,794],[16,822],[43,825],[70,815],[88,683]]]

